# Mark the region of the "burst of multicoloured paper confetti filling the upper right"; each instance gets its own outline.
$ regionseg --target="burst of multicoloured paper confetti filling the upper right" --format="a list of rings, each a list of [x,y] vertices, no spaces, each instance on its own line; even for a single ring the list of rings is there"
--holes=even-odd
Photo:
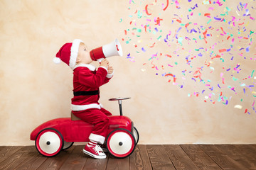
[[[143,66],[166,83],[200,89],[187,91],[189,98],[256,114],[255,0],[129,0],[127,6],[129,20],[119,23],[132,49],[129,61],[144,56]]]

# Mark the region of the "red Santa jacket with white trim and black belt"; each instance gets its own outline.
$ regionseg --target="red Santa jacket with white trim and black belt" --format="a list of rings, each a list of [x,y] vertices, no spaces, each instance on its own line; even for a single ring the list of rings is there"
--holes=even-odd
[[[99,103],[100,86],[106,84],[112,78],[107,74],[105,67],[99,67],[97,71],[90,64],[78,64],[73,72],[72,111],[83,111],[90,108],[102,108]]]

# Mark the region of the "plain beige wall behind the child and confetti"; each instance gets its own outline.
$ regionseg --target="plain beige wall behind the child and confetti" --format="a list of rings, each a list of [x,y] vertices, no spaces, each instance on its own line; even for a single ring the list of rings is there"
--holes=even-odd
[[[204,84],[195,83],[189,75],[186,75],[186,80],[178,77],[178,83],[184,84],[184,88],[181,89],[178,85],[172,85],[172,81],[169,83],[169,78],[156,76],[156,69],[152,69],[148,61],[151,54],[158,51],[170,52],[174,56],[169,59],[172,64],[174,62],[185,63],[184,56],[189,53],[186,49],[209,47],[210,43],[223,40],[218,36],[220,33],[217,35],[213,31],[208,44],[203,40],[198,41],[198,44],[193,44],[191,41],[191,45],[198,45],[195,47],[189,46],[186,40],[183,40],[185,50],[180,51],[183,57],[179,58],[172,53],[180,47],[176,42],[168,47],[161,39],[158,46],[149,49],[154,42],[150,40],[153,34],[142,33],[141,37],[134,35],[129,44],[122,41],[122,38],[127,40],[128,36],[124,35],[124,29],[135,27],[130,25],[129,21],[134,18],[130,18],[129,15],[133,15],[136,8],[143,11],[146,4],[150,3],[151,1],[142,1],[142,4],[137,2],[133,5],[129,4],[128,0],[73,2],[68,0],[1,0],[0,145],[33,145],[33,142],[29,140],[33,128],[46,120],[69,116],[70,98],[73,95],[73,75],[69,67],[63,63],[56,65],[52,59],[61,45],[75,38],[84,40],[90,49],[105,45],[114,38],[121,41],[124,57],[110,58],[114,67],[114,77],[109,84],[102,86],[100,101],[105,108],[117,115],[119,112],[117,103],[107,101],[107,99],[118,96],[132,97],[129,101],[123,102],[124,115],[134,121],[139,130],[141,144],[255,143],[256,113],[252,111],[252,102],[255,98],[252,97],[250,90],[247,89],[246,96],[243,92],[235,95],[223,89],[223,92],[228,91],[226,93],[232,97],[227,106],[221,102],[213,104],[209,100],[205,103],[203,102],[204,95],[199,97],[193,95],[194,91],[201,92],[205,87]],[[158,3],[160,6],[161,4],[165,6],[166,1],[158,1]],[[177,23],[171,25],[174,12],[177,12],[181,18],[186,18],[188,7],[193,6],[196,1],[191,1],[191,4],[188,1],[180,1],[182,8],[179,10],[176,10],[175,5],[171,3],[172,1],[169,1],[166,13],[155,6],[149,6],[151,13],[154,10],[156,10],[155,13],[161,12],[160,17],[166,21],[162,22],[166,24],[162,27],[163,31],[169,29],[175,31],[178,28]],[[255,1],[247,1],[247,3],[252,4]],[[198,4],[201,8],[196,9],[194,15],[198,15],[200,11],[202,14],[206,13],[208,9],[204,8],[205,6],[199,1]],[[239,1],[226,0],[224,6],[232,8],[230,15],[238,16],[236,14],[238,4]],[[130,6],[131,10],[127,9]],[[171,11],[171,8],[174,11]],[[209,12],[212,16],[225,13],[223,6],[221,10],[218,11],[218,5],[216,5],[215,10]],[[253,17],[256,16],[255,9],[250,8],[250,13]],[[144,16],[146,16],[145,12]],[[153,16],[151,19],[154,20]],[[142,24],[139,22],[144,21],[137,20],[139,27],[139,24]],[[197,22],[203,25],[207,21],[208,18],[206,21],[198,20]],[[212,26],[222,26],[214,20],[212,22]],[[255,30],[255,21],[246,18],[245,22],[249,24],[247,29]],[[172,28],[174,26],[176,26],[175,29]],[[227,24],[223,25],[223,28],[227,30]],[[237,31],[230,30],[232,31],[236,36],[234,48],[239,51],[239,46],[246,47],[240,44],[243,42],[237,40]],[[185,34],[186,30],[181,30],[181,35],[182,33]],[[198,37],[198,35],[195,36]],[[255,58],[255,34],[250,36],[253,42],[250,52],[243,52]],[[140,48],[147,46],[146,52],[142,52],[139,47],[135,48],[133,43],[139,44]],[[135,57],[135,62],[130,62],[126,58],[129,53]],[[234,56],[238,59],[238,52],[234,52]],[[252,69],[256,68],[255,60],[245,61],[247,60],[238,59],[237,61],[242,65],[242,72],[237,75],[241,81],[242,78],[251,74]],[[166,60],[161,60],[161,62],[167,63]],[[198,62],[205,62],[205,58]],[[214,74],[204,71],[203,75],[206,79],[211,79],[216,86],[221,83],[220,73],[225,72],[225,70],[222,71],[222,67],[227,68],[234,63],[227,61],[223,64],[217,60],[212,62],[215,68]],[[143,65],[144,63],[146,64]],[[203,64],[198,63],[198,66],[201,65]],[[185,67],[187,68],[186,64],[178,64],[176,74],[181,73]],[[166,69],[166,72],[169,70]],[[232,82],[231,79],[230,84]],[[247,82],[255,84],[255,79]],[[239,88],[239,84],[234,86]],[[218,96],[220,90],[215,89],[214,93]],[[192,96],[188,98],[188,94]],[[240,103],[240,98],[244,98],[242,103]],[[236,104],[240,104],[243,108],[241,110],[234,108]],[[251,115],[244,114],[245,108],[250,109]]]

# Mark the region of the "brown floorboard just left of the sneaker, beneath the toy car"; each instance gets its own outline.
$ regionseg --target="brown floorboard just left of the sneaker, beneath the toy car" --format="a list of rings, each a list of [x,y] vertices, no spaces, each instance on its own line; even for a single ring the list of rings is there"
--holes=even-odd
[[[60,170],[83,169],[87,162],[87,157],[82,152],[85,146],[73,146],[73,152],[70,153],[68,159],[62,164]],[[69,148],[71,149],[71,148]]]

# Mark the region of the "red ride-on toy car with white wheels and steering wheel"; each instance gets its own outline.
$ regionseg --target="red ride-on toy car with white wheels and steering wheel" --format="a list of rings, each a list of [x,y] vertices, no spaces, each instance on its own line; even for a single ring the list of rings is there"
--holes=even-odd
[[[110,98],[118,101],[120,115],[110,115],[105,145],[113,157],[128,157],[134,151],[139,132],[127,116],[122,115],[122,100],[129,98]],[[36,149],[46,157],[54,157],[63,149],[70,148],[74,142],[89,142],[93,125],[85,123],[71,114],[71,118],[57,118],[39,125],[31,132]]]

